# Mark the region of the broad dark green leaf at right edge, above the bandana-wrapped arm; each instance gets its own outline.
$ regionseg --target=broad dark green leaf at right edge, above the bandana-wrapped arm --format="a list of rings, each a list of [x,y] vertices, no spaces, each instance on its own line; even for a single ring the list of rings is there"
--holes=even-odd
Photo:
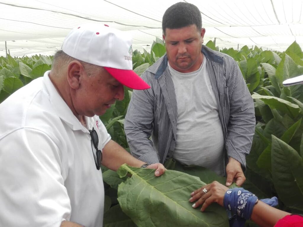
[[[303,211],[303,161],[296,150],[272,136],[272,179],[279,199],[288,207]]]

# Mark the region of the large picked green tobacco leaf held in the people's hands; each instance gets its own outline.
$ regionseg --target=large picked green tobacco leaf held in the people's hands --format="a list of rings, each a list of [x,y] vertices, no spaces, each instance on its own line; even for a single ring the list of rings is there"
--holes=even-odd
[[[190,193],[205,185],[198,177],[167,170],[155,177],[155,170],[122,165],[121,177],[132,174],[118,188],[118,201],[138,226],[228,226],[223,207],[212,204],[205,212],[193,209]]]

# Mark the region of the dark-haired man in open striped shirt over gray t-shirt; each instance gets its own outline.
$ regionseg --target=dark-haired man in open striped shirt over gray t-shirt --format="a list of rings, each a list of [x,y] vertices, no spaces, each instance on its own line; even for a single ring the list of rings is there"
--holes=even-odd
[[[202,45],[195,5],[169,7],[162,29],[167,53],[142,74],[151,88],[134,90],[125,117],[132,155],[148,164],[173,158],[203,166],[240,186],[255,112],[238,64]]]

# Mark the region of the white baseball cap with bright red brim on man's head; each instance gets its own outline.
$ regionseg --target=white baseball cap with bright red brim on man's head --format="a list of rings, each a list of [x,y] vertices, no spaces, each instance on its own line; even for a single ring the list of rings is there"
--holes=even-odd
[[[103,24],[80,25],[66,36],[62,51],[78,60],[104,67],[127,87],[150,88],[132,71],[132,37],[126,32]]]

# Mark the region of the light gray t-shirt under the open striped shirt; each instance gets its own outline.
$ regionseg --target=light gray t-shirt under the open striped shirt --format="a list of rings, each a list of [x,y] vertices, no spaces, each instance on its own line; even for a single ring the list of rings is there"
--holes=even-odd
[[[218,103],[205,60],[194,72],[181,73],[168,63],[178,107],[177,141],[173,158],[223,175],[224,135]]]

